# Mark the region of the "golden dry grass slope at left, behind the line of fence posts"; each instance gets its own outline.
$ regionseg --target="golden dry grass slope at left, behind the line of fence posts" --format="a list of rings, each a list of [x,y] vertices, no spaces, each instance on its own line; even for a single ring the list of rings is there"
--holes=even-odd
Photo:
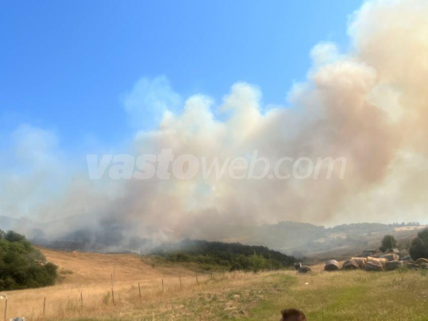
[[[58,265],[60,280],[51,287],[2,292],[8,296],[9,317],[25,316],[28,320],[41,319],[44,298],[46,298],[46,319],[58,320],[81,315],[81,293],[85,313],[94,311],[95,314],[104,314],[109,311],[110,303],[112,305],[111,277],[117,306],[138,295],[138,283],[142,297],[146,298],[162,289],[162,279],[165,280],[166,289],[175,283],[179,286],[179,276],[183,282],[189,280],[190,283],[190,280],[194,279],[194,273],[189,269],[161,265],[155,265],[153,268],[149,262],[143,262],[138,255],[39,249],[48,261]],[[66,274],[62,271],[66,271]],[[4,313],[3,304],[4,301],[0,303],[1,316]],[[116,307],[111,308],[116,310]]]

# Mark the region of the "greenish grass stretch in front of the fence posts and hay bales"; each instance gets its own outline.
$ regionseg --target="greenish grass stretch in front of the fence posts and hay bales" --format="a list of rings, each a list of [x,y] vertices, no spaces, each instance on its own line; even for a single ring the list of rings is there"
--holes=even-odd
[[[115,316],[76,321],[279,320],[287,307],[301,309],[309,321],[428,321],[428,276],[411,270],[240,273]]]

